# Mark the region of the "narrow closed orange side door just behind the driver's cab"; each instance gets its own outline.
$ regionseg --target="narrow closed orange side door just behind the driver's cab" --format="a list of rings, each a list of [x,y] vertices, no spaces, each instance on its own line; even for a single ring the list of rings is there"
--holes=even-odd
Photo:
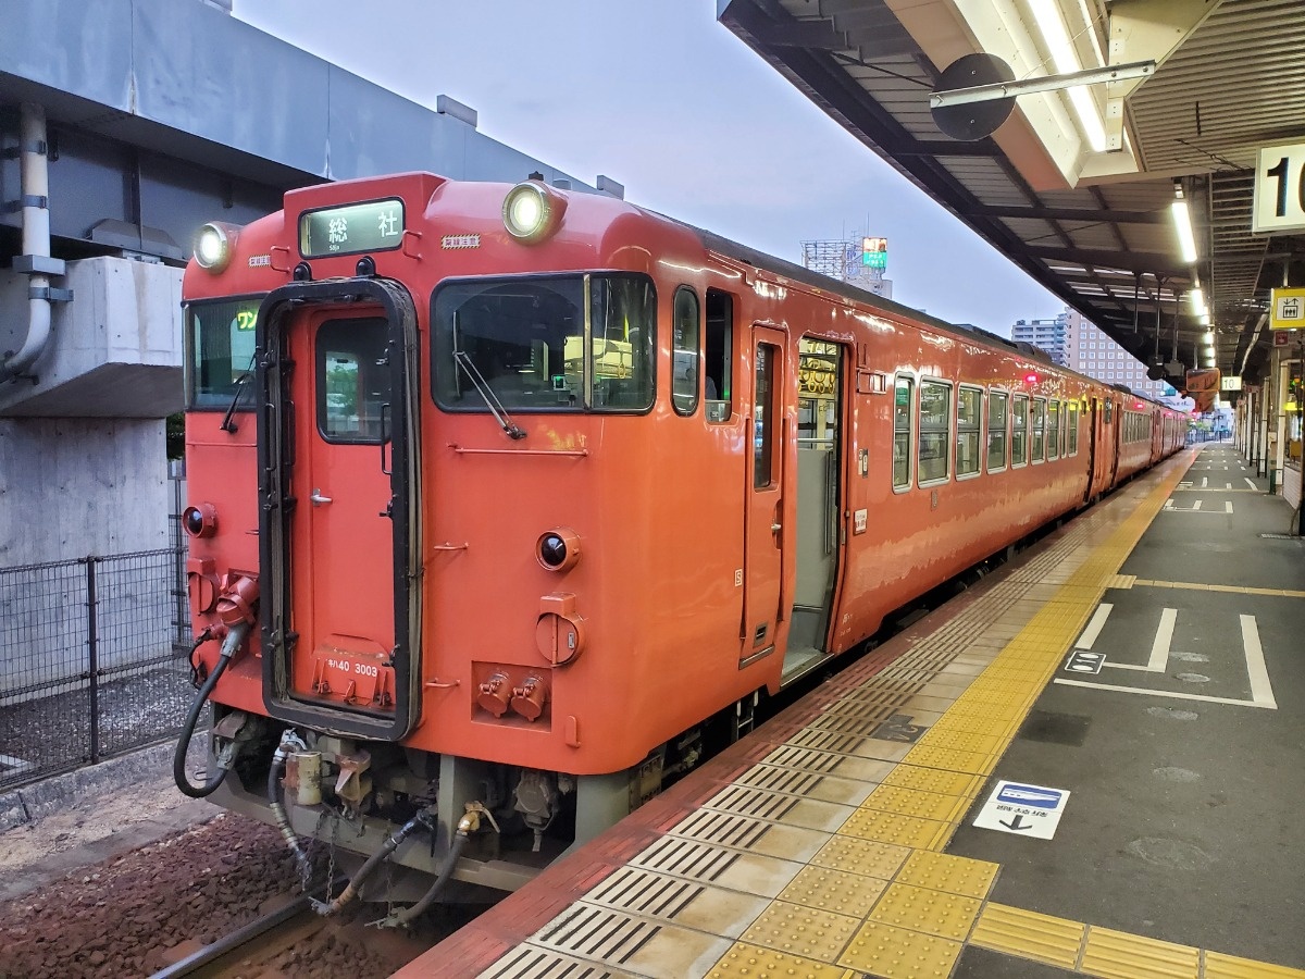
[[[752,465],[744,533],[744,612],[740,662],[775,649],[783,600],[784,544],[784,392],[788,386],[783,332],[754,326],[753,382],[748,431]]]

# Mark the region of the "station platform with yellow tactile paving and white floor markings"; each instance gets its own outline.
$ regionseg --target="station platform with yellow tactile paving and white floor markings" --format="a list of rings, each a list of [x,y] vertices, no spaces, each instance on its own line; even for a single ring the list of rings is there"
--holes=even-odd
[[[397,975],[1305,976],[1305,544],[1143,474]]]

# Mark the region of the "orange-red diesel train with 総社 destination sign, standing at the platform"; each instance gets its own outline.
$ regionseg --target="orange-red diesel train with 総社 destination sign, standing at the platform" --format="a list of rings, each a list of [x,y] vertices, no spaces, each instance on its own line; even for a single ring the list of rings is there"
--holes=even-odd
[[[294,191],[184,298],[217,762],[179,782],[500,888],[1185,427],[538,180]]]

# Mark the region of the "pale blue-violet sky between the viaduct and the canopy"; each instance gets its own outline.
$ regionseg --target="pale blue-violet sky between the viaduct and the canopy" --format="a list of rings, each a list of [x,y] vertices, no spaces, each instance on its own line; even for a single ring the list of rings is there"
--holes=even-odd
[[[718,23],[715,0],[234,0],[234,14],[780,258],[885,236],[893,298],[940,319],[1010,335],[1064,308]]]

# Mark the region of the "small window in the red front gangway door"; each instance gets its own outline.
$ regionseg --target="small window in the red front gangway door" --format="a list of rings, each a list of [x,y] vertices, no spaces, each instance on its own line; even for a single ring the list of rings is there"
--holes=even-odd
[[[378,445],[390,399],[385,320],[328,320],[317,329],[317,431],[329,443]]]

